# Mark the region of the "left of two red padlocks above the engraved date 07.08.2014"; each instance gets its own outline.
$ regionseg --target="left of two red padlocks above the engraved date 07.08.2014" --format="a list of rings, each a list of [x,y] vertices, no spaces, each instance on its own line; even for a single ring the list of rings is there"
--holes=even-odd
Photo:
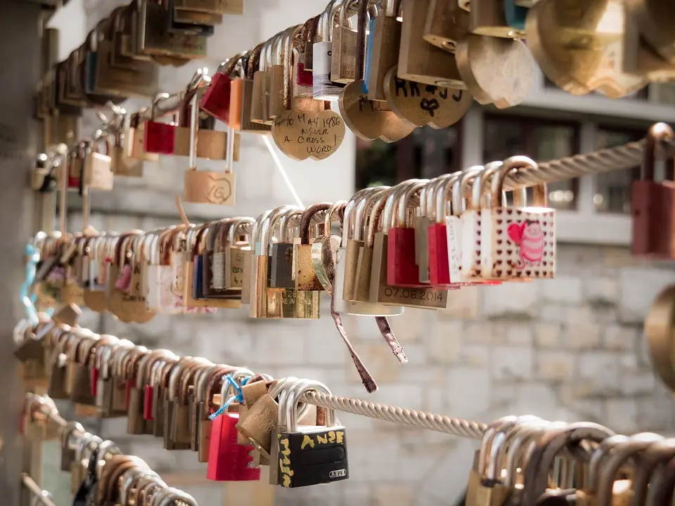
[[[417,180],[402,185],[387,200],[383,227],[389,227],[387,235],[387,285],[397,287],[428,287],[420,283],[420,269],[415,262],[415,229],[407,219],[407,203],[423,188],[428,180]]]

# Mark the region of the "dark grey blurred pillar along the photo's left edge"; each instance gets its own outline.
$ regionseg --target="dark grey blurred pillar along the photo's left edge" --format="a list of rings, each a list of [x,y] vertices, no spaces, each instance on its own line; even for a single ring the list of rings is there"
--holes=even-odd
[[[18,436],[23,390],[15,374],[12,330],[23,314],[18,294],[33,223],[33,195],[27,181],[40,131],[32,117],[41,65],[40,10],[24,0],[0,2],[0,497],[6,505],[19,504],[25,465]]]

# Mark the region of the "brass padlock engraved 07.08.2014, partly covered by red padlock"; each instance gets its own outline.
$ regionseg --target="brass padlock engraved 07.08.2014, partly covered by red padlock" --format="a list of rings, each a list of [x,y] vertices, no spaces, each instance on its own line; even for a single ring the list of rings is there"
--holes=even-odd
[[[444,309],[447,304],[447,293],[445,290],[436,288],[399,288],[387,285],[387,258],[388,234],[387,223],[392,223],[392,216],[396,210],[394,202],[397,202],[401,192],[406,191],[410,186],[414,186],[416,181],[406,181],[397,187],[387,190],[379,202],[373,206],[368,222],[368,231],[364,248],[361,250],[361,265],[359,267],[359,278],[367,279],[367,276],[361,273],[367,272],[370,264],[371,273],[368,285],[368,301],[379,302],[381,304],[397,304],[399,306],[419,307],[422,309]],[[386,200],[385,198],[386,197]],[[383,214],[384,211],[384,214]],[[377,231],[376,224],[383,219],[383,228]],[[414,237],[414,231],[412,231]],[[369,261],[363,261],[365,253],[371,255]],[[414,261],[414,245],[411,250],[411,259]],[[361,285],[360,292],[364,292]]]

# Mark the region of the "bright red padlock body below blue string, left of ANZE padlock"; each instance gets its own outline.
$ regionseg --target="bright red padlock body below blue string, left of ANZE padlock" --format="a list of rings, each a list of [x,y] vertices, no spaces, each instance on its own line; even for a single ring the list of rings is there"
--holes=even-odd
[[[253,466],[252,445],[237,443],[239,413],[221,413],[211,422],[207,479],[252,481],[260,479],[260,467]]]

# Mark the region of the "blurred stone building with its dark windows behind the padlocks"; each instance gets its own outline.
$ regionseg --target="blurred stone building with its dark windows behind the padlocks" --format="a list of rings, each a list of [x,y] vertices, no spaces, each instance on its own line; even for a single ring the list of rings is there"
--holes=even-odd
[[[119,4],[121,0],[72,0],[58,13],[52,25],[61,29],[61,58]],[[215,70],[224,58],[322,8],[311,0],[248,0],[243,18],[226,19],[217,29],[203,65]],[[162,69],[163,91],[185,86],[194,70]],[[476,105],[456,126],[418,129],[396,145],[364,143],[347,134],[338,153],[324,162],[281,160],[305,203],[334,201],[366,186],[431,178],[510,155],[543,161],[607,148],[642,138],[656,121],[675,122],[671,86],[609,100],[571,96],[541,76],[518,108]],[[95,126],[89,118],[81,131]],[[174,196],[182,191],[185,168],[185,158],[164,157],[159,164],[146,164],[141,181],[116,180],[113,193],[96,195],[91,223],[117,231],[176,223]],[[237,207],[186,206],[192,221],[257,216],[292,202],[260,138],[243,136],[235,171]],[[346,318],[352,342],[380,385],[368,400],[486,422],[531,413],[551,420],[603,422],[617,432],[675,428],[670,394],[650,369],[641,328],[655,294],[675,281],[675,270],[638,261],[629,252],[630,184],[638,175],[636,167],[549,186],[550,205],[559,210],[557,278],[464,288],[451,292],[446,311],[406,310],[392,318],[407,365],[398,365],[371,319]],[[73,209],[77,205],[72,202]],[[69,223],[72,230],[79,228],[77,211]],[[335,394],[365,398],[328,314],[328,299],[323,303],[319,321],[250,320],[246,311],[219,311],[203,317],[158,316],[142,326],[88,315],[84,324],[276,377],[311,377]],[[200,504],[244,504],[237,501],[276,493],[279,506],[436,506],[453,503],[463,492],[475,443],[364,417],[340,418],[347,425],[351,478],[292,491],[206,481],[205,466],[191,452],[167,452],[150,436],[127,436],[125,425],[115,420],[98,430],[141,455]],[[59,480],[67,483],[63,474]]]

